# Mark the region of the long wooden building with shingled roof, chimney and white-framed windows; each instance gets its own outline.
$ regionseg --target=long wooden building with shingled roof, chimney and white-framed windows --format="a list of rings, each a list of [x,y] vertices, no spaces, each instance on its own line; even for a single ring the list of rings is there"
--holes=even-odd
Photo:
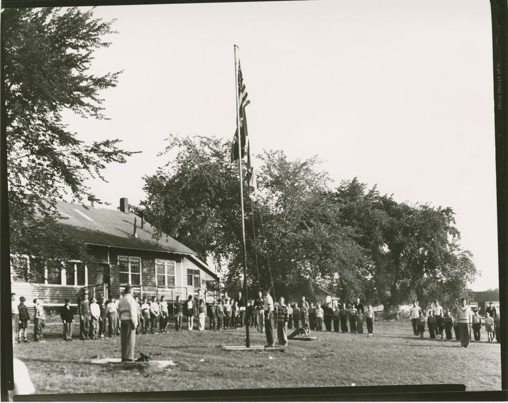
[[[217,273],[170,236],[155,238],[154,228],[129,211],[127,199],[120,199],[119,210],[63,201],[57,209],[66,232],[87,244],[94,267],[79,261],[48,265],[35,256],[13,255],[12,292],[25,297],[28,306],[35,298],[45,306],[61,306],[66,298],[74,304],[83,287],[90,298],[118,297],[126,284],[140,297],[164,295],[172,301],[193,295],[208,302],[219,297]],[[13,265],[25,275],[18,277]]]

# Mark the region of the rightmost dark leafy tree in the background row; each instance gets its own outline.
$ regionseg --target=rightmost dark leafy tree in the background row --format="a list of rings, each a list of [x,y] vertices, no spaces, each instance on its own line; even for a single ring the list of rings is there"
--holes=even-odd
[[[477,274],[471,253],[459,246],[450,207],[397,203],[356,178],[343,181],[334,197],[369,257],[366,293],[386,309],[413,297],[424,306],[457,298]]]

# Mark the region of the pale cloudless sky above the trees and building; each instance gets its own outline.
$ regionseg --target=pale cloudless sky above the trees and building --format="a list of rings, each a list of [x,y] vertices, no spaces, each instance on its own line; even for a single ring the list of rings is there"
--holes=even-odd
[[[83,8],[85,10],[89,8]],[[252,151],[319,156],[335,185],[358,177],[395,200],[451,206],[461,245],[498,287],[490,5],[321,0],[101,6],[116,19],[92,72],[110,120],[66,114],[78,137],[142,151],[89,180],[111,207],[145,198],[169,133],[231,139],[239,46]]]

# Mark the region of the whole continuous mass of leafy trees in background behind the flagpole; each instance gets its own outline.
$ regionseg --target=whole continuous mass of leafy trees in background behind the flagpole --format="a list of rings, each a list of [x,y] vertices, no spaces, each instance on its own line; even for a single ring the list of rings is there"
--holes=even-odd
[[[227,273],[226,285],[239,289],[241,216],[230,144],[209,137],[169,141],[166,152],[175,158],[145,178],[140,208],[161,232],[211,257]],[[252,290],[273,280],[276,295],[312,297],[309,285],[318,282],[345,301],[361,297],[389,308],[412,298],[422,305],[452,301],[474,279],[451,208],[398,203],[356,178],[332,190],[315,157],[290,160],[282,151],[258,157],[259,191],[247,196],[244,183]]]

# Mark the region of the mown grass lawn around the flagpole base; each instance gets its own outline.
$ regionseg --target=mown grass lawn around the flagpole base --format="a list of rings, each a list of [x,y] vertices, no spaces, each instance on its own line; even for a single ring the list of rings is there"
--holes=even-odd
[[[93,358],[119,357],[120,338],[72,342],[61,324],[47,323],[47,343],[15,345],[37,393],[165,391],[276,387],[465,384],[466,390],[500,390],[500,344],[421,340],[410,322],[376,322],[374,336],[311,332],[317,341],[291,341],[284,351],[224,351],[223,344],[245,343],[245,329],[175,332],[136,338],[136,356],[177,363],[159,370],[139,363],[92,364]],[[32,330],[30,326],[30,331]],[[428,333],[426,334],[428,337]],[[32,334],[30,332],[29,337]],[[33,340],[33,339],[31,339]],[[251,344],[265,344],[255,329]]]

